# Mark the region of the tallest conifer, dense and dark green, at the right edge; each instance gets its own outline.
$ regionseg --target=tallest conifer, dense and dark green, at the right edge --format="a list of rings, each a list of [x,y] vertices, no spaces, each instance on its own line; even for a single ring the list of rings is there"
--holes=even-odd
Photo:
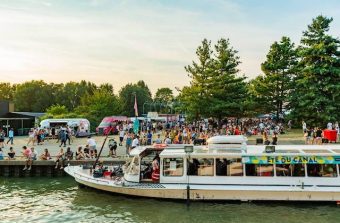
[[[332,18],[318,16],[303,32],[292,115],[313,126],[340,118],[340,41],[328,34]]]

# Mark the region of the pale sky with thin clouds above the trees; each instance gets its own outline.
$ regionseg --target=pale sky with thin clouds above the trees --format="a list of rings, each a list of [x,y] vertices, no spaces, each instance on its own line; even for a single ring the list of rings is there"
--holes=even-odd
[[[118,92],[144,80],[176,93],[204,38],[229,38],[251,79],[274,41],[299,44],[320,14],[339,37],[338,0],[0,0],[0,82],[87,80]]]

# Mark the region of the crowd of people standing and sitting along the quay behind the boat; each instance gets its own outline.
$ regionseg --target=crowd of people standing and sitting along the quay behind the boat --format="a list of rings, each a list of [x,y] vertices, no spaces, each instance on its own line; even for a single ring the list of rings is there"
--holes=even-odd
[[[119,123],[116,125],[118,131],[118,142],[111,138],[108,142],[109,157],[117,157],[117,147],[125,146],[126,154],[140,145],[152,144],[195,144],[203,145],[209,137],[217,135],[245,135],[245,136],[261,136],[263,144],[276,145],[278,136],[285,134],[286,129],[290,129],[292,122],[288,121],[286,125],[282,122],[275,122],[270,118],[254,118],[254,119],[225,119],[222,122],[214,122],[213,120],[202,120],[199,122],[184,123],[178,122],[143,122],[137,134],[133,131],[132,123]],[[321,144],[323,139],[323,131],[319,127],[308,127],[302,122],[303,134],[306,144]],[[339,134],[339,124],[328,123],[327,129],[336,130]],[[10,144],[7,152],[7,159],[15,159],[16,153],[13,148],[14,132],[9,130],[8,140],[5,140],[6,134],[0,129],[0,160],[5,158],[4,147]],[[28,133],[28,141],[26,146],[22,148],[22,156],[26,160],[24,170],[30,170],[33,161],[54,160],[56,168],[63,168],[67,160],[85,160],[94,159],[98,156],[96,141],[91,136],[88,137],[85,146],[79,146],[75,153],[70,147],[64,151],[63,147],[71,145],[73,142],[73,131],[68,126],[60,126],[51,129],[32,128]],[[47,148],[42,154],[38,154],[34,149],[35,145],[44,145],[46,139],[54,139],[59,145],[60,151],[51,156]],[[32,147],[29,147],[29,145]]]

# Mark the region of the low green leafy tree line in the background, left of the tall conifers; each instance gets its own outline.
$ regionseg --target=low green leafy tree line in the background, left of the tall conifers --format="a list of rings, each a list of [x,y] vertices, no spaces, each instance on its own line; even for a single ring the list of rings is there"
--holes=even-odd
[[[16,111],[46,112],[43,118],[87,118],[95,128],[105,116],[134,116],[135,95],[138,111],[150,111],[151,102],[163,107],[151,108],[160,112],[173,101],[170,88],[159,88],[152,98],[144,81],[129,83],[114,94],[109,83],[96,85],[92,82],[46,83],[32,80],[22,84],[0,83],[0,100],[13,101]],[[144,109],[144,105],[145,106]],[[163,109],[163,111],[161,111]]]

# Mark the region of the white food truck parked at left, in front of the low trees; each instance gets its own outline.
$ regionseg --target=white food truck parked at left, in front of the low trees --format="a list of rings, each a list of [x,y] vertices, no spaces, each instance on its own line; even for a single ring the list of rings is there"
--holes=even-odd
[[[52,129],[52,132],[55,128],[66,125],[74,130],[76,137],[85,137],[90,135],[90,122],[84,118],[45,119],[40,122],[40,128],[49,128]]]

